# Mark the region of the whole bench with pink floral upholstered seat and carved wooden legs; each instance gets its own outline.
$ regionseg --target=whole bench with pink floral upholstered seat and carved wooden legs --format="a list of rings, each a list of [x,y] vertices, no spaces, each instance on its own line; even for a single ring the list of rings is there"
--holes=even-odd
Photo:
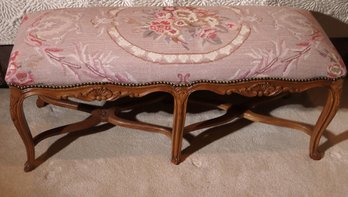
[[[256,114],[253,107],[239,109],[238,115],[305,131],[310,135],[311,158],[320,159],[320,137],[338,109],[345,74],[342,59],[308,11],[248,6],[117,7],[26,15],[6,81],[11,88],[11,116],[27,150],[25,171],[30,171],[39,165],[34,147],[41,140],[101,122],[167,135],[172,140],[172,161],[178,164],[185,133],[235,118],[232,108],[224,107],[226,116],[185,126],[189,96],[201,90],[270,98],[326,87],[328,100],[314,126]],[[117,115],[125,108],[114,106],[113,101],[154,92],[174,98],[172,128]],[[53,104],[91,115],[33,137],[23,101],[34,95],[38,107]],[[106,101],[106,105],[76,99]]]

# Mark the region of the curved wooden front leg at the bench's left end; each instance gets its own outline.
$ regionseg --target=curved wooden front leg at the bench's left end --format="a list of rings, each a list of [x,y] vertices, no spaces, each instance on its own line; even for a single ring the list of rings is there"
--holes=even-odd
[[[21,136],[27,151],[27,162],[24,165],[24,171],[33,170],[35,165],[35,149],[34,141],[31,135],[25,114],[23,111],[23,102],[25,96],[22,91],[17,88],[11,88],[10,112],[12,121]]]

